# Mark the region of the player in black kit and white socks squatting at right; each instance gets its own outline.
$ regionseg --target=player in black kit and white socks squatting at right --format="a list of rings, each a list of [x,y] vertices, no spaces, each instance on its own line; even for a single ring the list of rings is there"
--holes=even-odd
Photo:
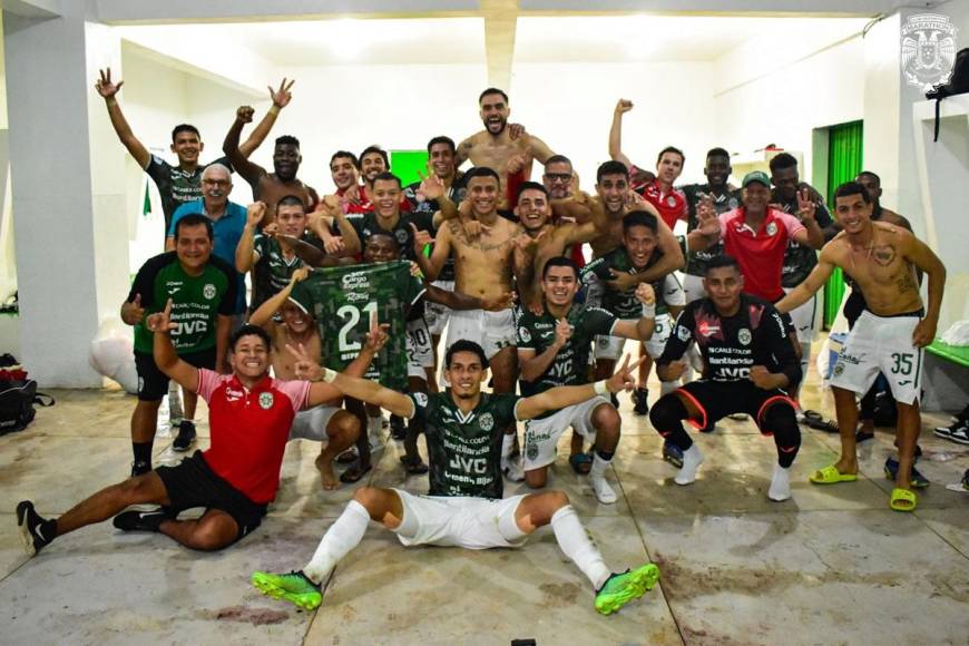
[[[681,361],[691,341],[703,354],[703,378],[663,397],[653,407],[649,421],[664,439],[683,452],[683,466],[674,479],[689,484],[703,454],[683,430],[683,420],[697,429],[737,412],[751,415],[764,434],[773,434],[777,463],[767,497],[791,497],[791,464],[801,447],[794,402],[787,397],[801,379],[801,366],[781,315],[773,305],[744,291],[746,277],[728,255],[706,266],[707,297],[689,303],[679,317],[663,355],[656,360],[660,379],[678,379]]]

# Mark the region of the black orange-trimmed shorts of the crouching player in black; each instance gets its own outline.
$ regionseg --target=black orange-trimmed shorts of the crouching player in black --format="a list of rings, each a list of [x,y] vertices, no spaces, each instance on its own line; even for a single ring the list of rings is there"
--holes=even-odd
[[[776,404],[783,404],[794,414],[794,401],[783,390],[763,390],[751,381],[712,381],[702,379],[691,381],[676,390],[691,400],[701,412],[699,420],[688,420],[697,429],[714,424],[733,413],[747,413],[765,435],[771,429],[762,424],[766,410]]]

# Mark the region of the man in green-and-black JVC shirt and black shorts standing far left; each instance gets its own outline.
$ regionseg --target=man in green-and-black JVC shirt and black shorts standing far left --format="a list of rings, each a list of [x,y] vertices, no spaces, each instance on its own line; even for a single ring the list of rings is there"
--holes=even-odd
[[[173,301],[172,321],[178,326],[172,342],[178,355],[196,368],[221,370],[224,365],[232,314],[235,306],[235,270],[212,254],[212,221],[202,214],[186,215],[175,228],[175,251],[149,258],[121,305],[121,321],[135,326],[135,366],[138,370],[138,404],[131,415],[135,454],[131,474],[151,470],[151,446],[157,430],[158,407],[168,392],[168,378],[151,358],[153,334],[145,326],[148,314]],[[185,414],[195,415],[196,394],[185,393]],[[195,427],[183,425],[173,442],[187,451]]]

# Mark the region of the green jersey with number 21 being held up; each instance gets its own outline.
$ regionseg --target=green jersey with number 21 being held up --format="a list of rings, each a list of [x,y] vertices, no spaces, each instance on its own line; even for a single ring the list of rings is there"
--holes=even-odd
[[[370,317],[390,325],[390,339],[364,375],[397,391],[407,389],[407,313],[427,288],[407,261],[313,270],[290,300],[316,320],[323,364],[344,370],[360,354]]]

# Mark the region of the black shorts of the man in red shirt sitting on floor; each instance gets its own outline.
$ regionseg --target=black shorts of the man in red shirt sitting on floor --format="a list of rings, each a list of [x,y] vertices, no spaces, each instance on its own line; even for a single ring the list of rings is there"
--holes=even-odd
[[[158,467],[155,472],[165,484],[174,513],[193,507],[205,507],[232,516],[238,525],[238,534],[233,542],[257,528],[266,515],[265,505],[256,505],[245,493],[219,478],[202,457],[202,451],[195,451],[190,458],[185,458],[175,467]]]

